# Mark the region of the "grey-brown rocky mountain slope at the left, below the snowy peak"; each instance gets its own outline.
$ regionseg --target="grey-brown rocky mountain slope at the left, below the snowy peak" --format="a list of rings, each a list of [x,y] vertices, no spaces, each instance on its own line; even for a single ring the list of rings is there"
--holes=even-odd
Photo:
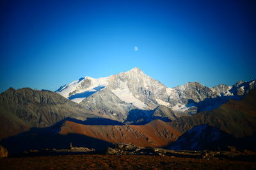
[[[66,117],[86,120],[97,116],[49,90],[10,88],[0,95],[0,139],[30,127],[51,126]]]

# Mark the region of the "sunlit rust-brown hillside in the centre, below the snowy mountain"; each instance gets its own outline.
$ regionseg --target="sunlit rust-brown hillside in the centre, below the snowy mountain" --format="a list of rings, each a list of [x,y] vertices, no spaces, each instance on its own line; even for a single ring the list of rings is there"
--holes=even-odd
[[[155,120],[147,125],[81,125],[65,122],[59,134],[76,133],[111,143],[132,143],[137,146],[166,146],[180,133],[170,123]]]

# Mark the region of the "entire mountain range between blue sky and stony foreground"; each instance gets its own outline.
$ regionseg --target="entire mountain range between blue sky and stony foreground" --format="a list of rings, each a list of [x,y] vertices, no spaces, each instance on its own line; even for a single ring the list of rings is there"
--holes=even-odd
[[[95,148],[122,142],[201,150],[212,142],[205,138],[211,132],[218,146],[235,141],[223,142],[227,135],[237,139],[230,145],[255,149],[254,89],[255,80],[170,88],[138,67],[106,78],[80,78],[56,92],[10,88],[0,96],[0,143],[13,153],[70,142]],[[250,141],[244,139],[248,137]]]

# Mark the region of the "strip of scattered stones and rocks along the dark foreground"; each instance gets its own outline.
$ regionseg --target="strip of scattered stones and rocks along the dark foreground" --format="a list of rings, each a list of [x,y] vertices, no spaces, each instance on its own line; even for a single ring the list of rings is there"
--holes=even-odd
[[[232,159],[232,160],[256,160],[256,152],[250,150],[244,150],[243,152],[234,152],[235,147],[230,146],[230,151],[193,151],[193,150],[165,150],[163,148],[149,148],[140,147],[132,144],[114,143],[106,150],[94,150],[90,148],[74,147],[68,149],[44,149],[44,150],[28,150],[24,152],[24,155],[62,155],[62,154],[106,154],[106,155],[154,155],[160,157],[186,157],[186,158],[198,158],[198,159]],[[59,153],[58,153],[59,152]],[[1,152],[2,153],[2,152]],[[6,155],[7,156],[7,155]],[[1,157],[3,157],[1,155]]]

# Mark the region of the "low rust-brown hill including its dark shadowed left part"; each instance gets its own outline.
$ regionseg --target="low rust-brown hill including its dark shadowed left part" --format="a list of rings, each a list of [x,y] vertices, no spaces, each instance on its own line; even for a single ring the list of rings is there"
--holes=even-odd
[[[132,143],[136,146],[167,146],[180,136],[170,123],[154,120],[147,125],[83,125],[64,120],[51,127],[31,128],[15,136],[2,139],[12,154],[22,150],[68,148],[69,144],[97,150],[112,143]],[[17,142],[19,141],[19,142]]]

